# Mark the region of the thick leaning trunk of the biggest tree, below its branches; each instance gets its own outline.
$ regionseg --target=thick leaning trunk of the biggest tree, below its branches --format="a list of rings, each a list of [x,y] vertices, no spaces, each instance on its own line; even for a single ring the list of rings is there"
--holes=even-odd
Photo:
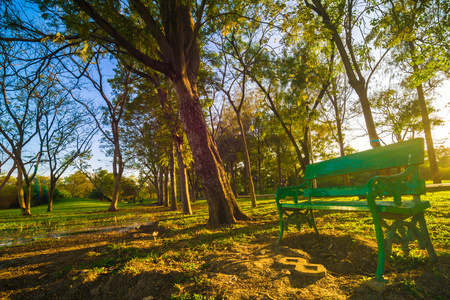
[[[176,77],[173,82],[181,121],[208,201],[208,224],[233,224],[237,220],[249,220],[233,195],[219,152],[206,125],[197,91],[192,90],[187,76]]]

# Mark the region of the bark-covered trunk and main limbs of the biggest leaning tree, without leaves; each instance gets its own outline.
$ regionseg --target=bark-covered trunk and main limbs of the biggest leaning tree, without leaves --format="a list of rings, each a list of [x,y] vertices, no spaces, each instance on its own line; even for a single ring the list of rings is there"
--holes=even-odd
[[[165,74],[174,83],[181,122],[208,200],[208,223],[231,224],[236,220],[249,220],[250,218],[237,205],[231,191],[216,145],[206,125],[197,92],[200,67],[197,35],[202,24],[202,12],[206,1],[202,1],[198,7],[197,23],[191,14],[190,2],[160,1],[159,17],[162,21],[158,23],[153,12],[150,12],[142,1],[130,0],[134,12],[142,20],[139,26],[145,26],[143,32],[147,32],[157,43],[155,46],[158,47],[158,51],[153,54],[161,61],[141,52],[139,50],[141,45],[135,45],[128,40],[121,28],[114,27],[88,1],[74,0],[74,2],[108,34],[108,39],[114,40],[116,46],[147,67]]]

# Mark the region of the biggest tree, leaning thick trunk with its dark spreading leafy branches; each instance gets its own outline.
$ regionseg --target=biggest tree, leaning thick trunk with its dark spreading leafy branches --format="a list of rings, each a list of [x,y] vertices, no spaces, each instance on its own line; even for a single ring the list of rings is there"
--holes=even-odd
[[[123,5],[122,9],[104,1],[43,2],[65,12],[62,19],[70,30],[84,32],[97,41],[112,41],[115,47],[172,81],[184,131],[207,195],[208,223],[229,224],[236,220],[248,220],[231,191],[206,125],[197,89],[200,27],[205,10],[211,9],[213,13],[217,8],[206,6],[205,0],[196,6],[195,11],[192,11],[193,3],[181,0],[116,3]],[[92,26],[91,20],[97,27]],[[142,45],[150,46],[143,49]]]

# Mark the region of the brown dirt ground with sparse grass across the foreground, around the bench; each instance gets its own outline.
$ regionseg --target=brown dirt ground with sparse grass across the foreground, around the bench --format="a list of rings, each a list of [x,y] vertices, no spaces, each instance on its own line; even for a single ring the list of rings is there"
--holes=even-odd
[[[379,293],[364,284],[377,265],[374,240],[343,232],[290,233],[281,245],[276,245],[273,233],[224,246],[214,239],[202,243],[205,235],[174,242],[176,238],[151,223],[123,232],[0,248],[0,298],[450,298],[448,255],[439,255],[436,264],[429,262],[426,252],[417,252],[415,259],[399,257],[386,270],[397,284]],[[293,266],[280,263],[284,257],[321,264],[327,275],[302,276]]]

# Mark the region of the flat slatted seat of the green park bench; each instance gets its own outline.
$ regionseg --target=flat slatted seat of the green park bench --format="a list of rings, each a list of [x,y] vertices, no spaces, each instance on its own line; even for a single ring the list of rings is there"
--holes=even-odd
[[[397,206],[392,201],[376,201],[380,213],[395,213],[401,215],[415,215],[430,207],[429,201],[403,201]],[[367,201],[301,201],[297,204],[282,203],[284,210],[314,209],[314,210],[338,210],[338,211],[370,211]]]

